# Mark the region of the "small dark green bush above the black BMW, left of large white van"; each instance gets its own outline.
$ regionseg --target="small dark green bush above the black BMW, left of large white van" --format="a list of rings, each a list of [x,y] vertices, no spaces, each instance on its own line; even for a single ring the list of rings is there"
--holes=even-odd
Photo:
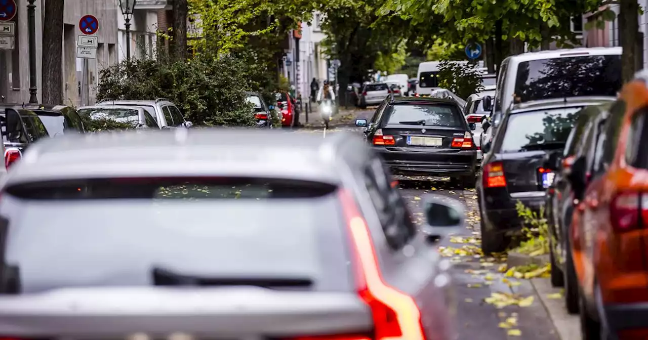
[[[463,100],[483,90],[481,72],[467,62],[442,61],[439,63],[437,78],[439,87],[452,91]]]

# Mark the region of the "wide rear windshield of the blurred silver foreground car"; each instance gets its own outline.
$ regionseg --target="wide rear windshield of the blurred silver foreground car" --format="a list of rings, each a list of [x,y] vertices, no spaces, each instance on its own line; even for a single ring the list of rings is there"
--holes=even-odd
[[[335,186],[307,181],[30,183],[3,197],[6,262],[25,293],[168,285],[174,275],[196,286],[350,291],[340,208]]]

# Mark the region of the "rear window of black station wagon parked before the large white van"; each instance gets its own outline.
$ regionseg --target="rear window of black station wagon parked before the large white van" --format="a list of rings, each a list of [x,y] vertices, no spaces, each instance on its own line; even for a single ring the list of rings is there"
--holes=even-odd
[[[502,152],[544,150],[564,145],[581,108],[516,113],[509,117]]]

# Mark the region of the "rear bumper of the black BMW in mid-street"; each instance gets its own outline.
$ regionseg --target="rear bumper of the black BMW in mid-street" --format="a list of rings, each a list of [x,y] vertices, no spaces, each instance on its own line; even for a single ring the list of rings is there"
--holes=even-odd
[[[474,176],[477,150],[452,153],[406,152],[376,148],[391,172],[406,176]]]

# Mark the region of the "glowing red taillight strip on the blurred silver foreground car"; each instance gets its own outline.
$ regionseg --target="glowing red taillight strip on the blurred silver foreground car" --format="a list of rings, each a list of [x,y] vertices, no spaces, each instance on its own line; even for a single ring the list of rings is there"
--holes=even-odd
[[[342,189],[340,201],[356,251],[354,269],[358,294],[371,307],[376,340],[425,340],[421,328],[421,312],[416,302],[410,296],[388,286],[382,278],[371,234],[355,199]],[[391,313],[395,320],[390,318]]]

